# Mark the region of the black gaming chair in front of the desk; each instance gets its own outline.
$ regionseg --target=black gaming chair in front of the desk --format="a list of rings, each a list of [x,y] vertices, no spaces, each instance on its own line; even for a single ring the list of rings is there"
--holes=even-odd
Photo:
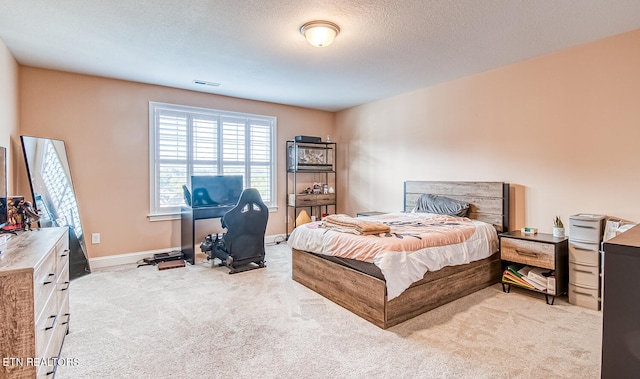
[[[242,191],[235,207],[222,217],[222,227],[227,232],[222,237],[224,252],[218,258],[231,269],[230,274],[265,267],[264,235],[269,220],[269,209],[262,202],[255,188]]]

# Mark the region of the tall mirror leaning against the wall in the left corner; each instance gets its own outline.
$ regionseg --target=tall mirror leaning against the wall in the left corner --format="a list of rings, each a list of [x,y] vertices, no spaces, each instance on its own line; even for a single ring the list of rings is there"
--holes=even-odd
[[[69,227],[69,279],[89,274],[87,246],[64,141],[20,136],[41,228]]]

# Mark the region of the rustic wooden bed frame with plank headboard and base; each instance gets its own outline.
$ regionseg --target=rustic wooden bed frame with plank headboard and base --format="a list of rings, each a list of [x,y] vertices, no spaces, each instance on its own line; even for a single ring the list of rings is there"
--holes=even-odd
[[[404,185],[404,210],[423,193],[445,195],[471,204],[469,218],[508,231],[509,184],[502,182],[424,182]],[[500,253],[460,266],[427,272],[400,296],[387,300],[384,280],[297,249],[292,249],[292,278],[380,328],[387,329],[419,314],[500,281]]]

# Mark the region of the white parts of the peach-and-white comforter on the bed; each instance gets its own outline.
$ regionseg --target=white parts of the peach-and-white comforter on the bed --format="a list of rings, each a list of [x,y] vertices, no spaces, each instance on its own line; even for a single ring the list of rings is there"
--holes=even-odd
[[[387,214],[383,217],[385,223],[393,217],[397,220],[425,220],[434,217],[425,213],[397,213]],[[436,216],[437,217],[437,216]],[[367,217],[369,221],[378,220],[377,217]],[[412,251],[385,251],[380,250],[371,255],[372,258],[361,259],[373,262],[380,268],[385,277],[387,286],[387,299],[391,300],[399,296],[409,286],[421,280],[427,271],[437,271],[442,267],[467,264],[491,256],[498,251],[498,236],[495,228],[485,222],[464,219],[471,221],[475,226],[475,231],[466,240],[444,246],[426,247]],[[393,232],[393,226],[392,226]],[[289,236],[288,245],[292,248],[310,251],[316,254],[344,256],[340,251],[334,251],[331,246],[335,246],[335,239],[349,238],[349,245],[354,242],[358,244],[376,244],[380,241],[377,236],[346,236],[346,233],[336,232],[320,227],[320,222],[310,225],[302,225],[296,228]],[[357,238],[357,240],[354,240]],[[338,250],[338,249],[336,249]],[[349,256],[347,256],[349,257]],[[351,258],[351,257],[349,257]]]

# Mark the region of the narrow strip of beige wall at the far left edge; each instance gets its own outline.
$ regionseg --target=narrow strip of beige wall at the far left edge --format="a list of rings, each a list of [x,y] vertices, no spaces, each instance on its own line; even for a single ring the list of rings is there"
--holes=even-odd
[[[9,195],[15,194],[12,162],[22,158],[18,127],[18,64],[0,40],[0,146],[7,148]]]

